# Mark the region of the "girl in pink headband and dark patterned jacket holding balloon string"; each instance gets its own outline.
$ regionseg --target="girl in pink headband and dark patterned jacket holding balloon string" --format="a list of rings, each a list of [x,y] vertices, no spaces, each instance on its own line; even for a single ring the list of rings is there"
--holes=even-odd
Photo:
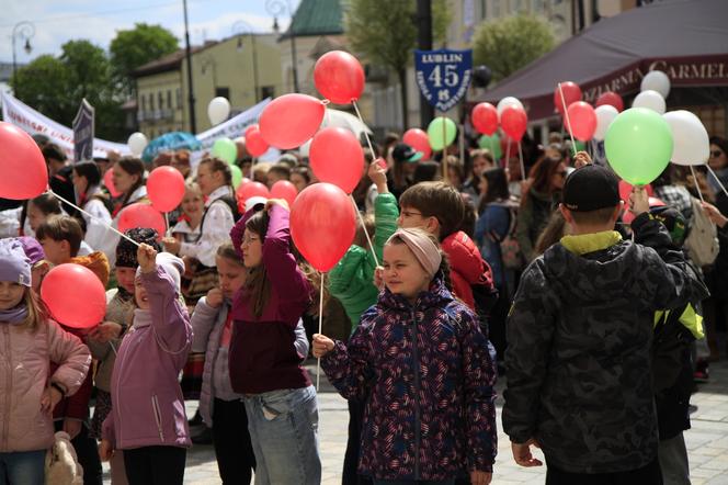
[[[398,229],[384,247],[386,289],[349,343],[314,338],[341,395],[368,396],[360,472],[375,485],[453,484],[466,470],[473,484],[490,483],[496,370],[447,272],[434,236]]]

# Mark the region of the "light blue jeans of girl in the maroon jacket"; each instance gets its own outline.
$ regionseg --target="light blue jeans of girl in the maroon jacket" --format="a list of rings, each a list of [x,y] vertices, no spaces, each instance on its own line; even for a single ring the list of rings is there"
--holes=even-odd
[[[318,405],[314,386],[244,398],[255,453],[255,485],[318,485]]]

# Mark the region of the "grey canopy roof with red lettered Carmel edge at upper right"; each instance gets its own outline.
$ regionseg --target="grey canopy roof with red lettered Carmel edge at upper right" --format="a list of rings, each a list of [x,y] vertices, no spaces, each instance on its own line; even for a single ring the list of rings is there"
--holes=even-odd
[[[728,1],[672,0],[602,19],[486,91],[484,101],[519,98],[531,121],[554,114],[554,90],[573,81],[593,102],[639,90],[644,75],[664,71],[673,87],[728,86]]]

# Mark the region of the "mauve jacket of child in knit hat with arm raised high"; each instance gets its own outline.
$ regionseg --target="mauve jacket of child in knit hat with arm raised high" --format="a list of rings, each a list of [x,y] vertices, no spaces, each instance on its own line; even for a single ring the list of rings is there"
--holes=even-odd
[[[111,377],[113,410],[104,420],[102,436],[121,450],[190,447],[178,382],[192,343],[190,317],[161,267],[141,273],[141,281],[150,308],[135,311],[134,327],[118,348]]]

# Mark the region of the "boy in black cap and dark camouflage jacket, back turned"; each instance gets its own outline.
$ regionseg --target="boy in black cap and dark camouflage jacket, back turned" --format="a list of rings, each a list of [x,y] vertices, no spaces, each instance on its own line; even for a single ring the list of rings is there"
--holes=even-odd
[[[670,235],[632,196],[635,241],[614,232],[617,179],[577,169],[560,211],[572,227],[526,268],[508,322],[503,428],[523,466],[541,462],[546,484],[661,484],[650,379],[655,312],[699,301],[707,290]]]

